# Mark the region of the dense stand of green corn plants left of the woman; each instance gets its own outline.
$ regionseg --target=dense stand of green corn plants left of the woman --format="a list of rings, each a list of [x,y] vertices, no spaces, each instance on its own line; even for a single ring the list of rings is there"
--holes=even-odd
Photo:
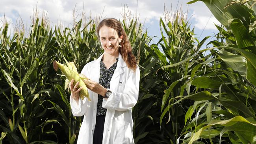
[[[3,143],[75,142],[81,118],[72,116],[70,95],[64,90],[65,79],[56,75],[52,63],[63,62],[61,59],[65,56],[75,61],[81,71],[82,65],[100,55],[102,51],[95,52],[98,48],[95,24],[90,26],[89,22],[81,30],[81,22],[76,23],[78,29],[56,27],[52,30],[40,25],[37,18],[28,37],[19,31],[10,38],[8,25],[2,28],[0,127]]]

